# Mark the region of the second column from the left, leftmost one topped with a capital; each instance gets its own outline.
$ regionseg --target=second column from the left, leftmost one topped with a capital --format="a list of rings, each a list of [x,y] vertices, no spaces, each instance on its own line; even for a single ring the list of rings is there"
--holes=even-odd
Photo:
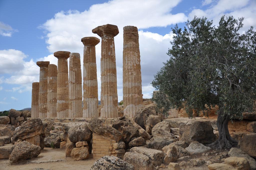
[[[47,117],[47,76],[48,65],[50,61],[37,61],[36,64],[40,67],[39,76],[39,118]]]

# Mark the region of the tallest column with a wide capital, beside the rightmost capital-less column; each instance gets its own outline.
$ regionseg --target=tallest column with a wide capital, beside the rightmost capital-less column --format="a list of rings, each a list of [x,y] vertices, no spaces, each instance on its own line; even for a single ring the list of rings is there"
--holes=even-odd
[[[114,36],[119,30],[116,25],[102,25],[92,30],[101,37],[101,118],[118,117]]]

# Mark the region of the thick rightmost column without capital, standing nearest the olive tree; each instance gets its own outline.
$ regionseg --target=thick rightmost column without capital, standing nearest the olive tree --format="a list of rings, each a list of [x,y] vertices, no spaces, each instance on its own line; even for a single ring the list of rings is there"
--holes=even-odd
[[[133,118],[142,107],[141,60],[138,29],[125,26],[123,46],[123,101],[124,115]]]

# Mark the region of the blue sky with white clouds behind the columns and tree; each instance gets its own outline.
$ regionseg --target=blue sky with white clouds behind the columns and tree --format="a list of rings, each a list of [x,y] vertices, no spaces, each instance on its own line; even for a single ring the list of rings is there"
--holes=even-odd
[[[36,61],[57,65],[55,51],[79,52],[81,38],[98,35],[92,29],[117,25],[115,52],[118,100],[122,100],[123,27],[139,30],[142,93],[150,98],[154,74],[169,56],[175,24],[184,27],[187,19],[206,16],[218,25],[222,15],[244,17],[244,28],[256,28],[255,0],[112,0],[112,1],[9,1],[0,0],[0,111],[31,107],[31,87],[39,81]],[[98,37],[100,38],[100,37]],[[101,46],[96,46],[100,99]]]

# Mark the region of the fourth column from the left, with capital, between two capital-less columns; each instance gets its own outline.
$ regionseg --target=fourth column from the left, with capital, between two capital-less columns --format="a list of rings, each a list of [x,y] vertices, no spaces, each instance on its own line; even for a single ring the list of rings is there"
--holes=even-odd
[[[57,51],[53,55],[58,58],[57,74],[57,118],[67,118],[69,110],[68,98],[68,58],[70,52]]]

